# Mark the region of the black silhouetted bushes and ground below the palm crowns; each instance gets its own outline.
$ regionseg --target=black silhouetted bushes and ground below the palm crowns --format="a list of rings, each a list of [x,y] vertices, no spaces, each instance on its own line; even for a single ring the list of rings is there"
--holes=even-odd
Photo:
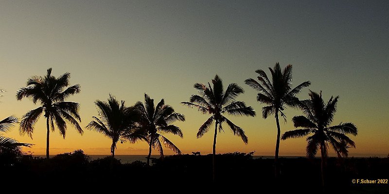
[[[232,186],[234,189],[263,191],[275,186],[283,191],[322,193],[320,159],[280,158],[281,176],[274,178],[273,159],[253,159],[252,153],[217,154],[216,182],[212,181],[212,154],[167,156],[163,160],[121,163],[112,157],[91,160],[82,150],[58,154],[50,160],[32,155],[0,155],[0,172],[7,181],[28,180],[29,185],[79,184],[93,186],[137,184],[151,188],[174,186],[200,189],[208,186]],[[328,158],[327,193],[385,193],[389,184],[353,184],[352,179],[389,178],[387,158]],[[158,180],[158,181],[155,181]],[[156,185],[158,184],[158,185]],[[228,188],[228,187],[222,187]],[[150,188],[149,188],[150,189]]]

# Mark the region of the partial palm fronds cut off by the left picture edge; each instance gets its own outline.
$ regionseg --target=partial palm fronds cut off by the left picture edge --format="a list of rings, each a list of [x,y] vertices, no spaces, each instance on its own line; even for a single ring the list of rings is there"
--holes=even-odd
[[[4,152],[20,153],[20,146],[30,147],[33,144],[19,143],[17,140],[4,137],[1,133],[8,132],[14,123],[18,122],[18,118],[15,116],[9,116],[0,121],[0,154]]]

